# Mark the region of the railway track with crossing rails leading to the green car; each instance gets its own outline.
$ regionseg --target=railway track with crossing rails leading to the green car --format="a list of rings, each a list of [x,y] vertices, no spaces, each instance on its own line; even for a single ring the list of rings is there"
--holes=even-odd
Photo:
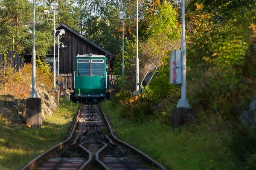
[[[150,170],[163,166],[119,140],[101,105],[80,106],[64,142],[42,153],[21,170]]]

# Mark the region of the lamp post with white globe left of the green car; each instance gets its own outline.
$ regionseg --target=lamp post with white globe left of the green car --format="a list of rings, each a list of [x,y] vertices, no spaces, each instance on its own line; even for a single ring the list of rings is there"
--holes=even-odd
[[[52,1],[51,3],[51,8],[53,9],[53,87],[52,91],[56,91],[56,61],[55,61],[55,34],[56,34],[56,29],[55,29],[55,10],[58,8],[58,3],[56,1]]]

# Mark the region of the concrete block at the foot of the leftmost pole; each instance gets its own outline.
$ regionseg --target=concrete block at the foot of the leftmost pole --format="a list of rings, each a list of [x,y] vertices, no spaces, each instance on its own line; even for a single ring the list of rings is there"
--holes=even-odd
[[[26,99],[26,125],[32,128],[41,129],[41,98],[27,98]]]

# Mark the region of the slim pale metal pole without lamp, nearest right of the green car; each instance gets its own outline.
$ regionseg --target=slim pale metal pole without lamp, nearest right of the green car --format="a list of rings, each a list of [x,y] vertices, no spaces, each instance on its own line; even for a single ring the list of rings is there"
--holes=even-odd
[[[136,94],[139,94],[139,3],[137,0],[137,49],[136,49]]]

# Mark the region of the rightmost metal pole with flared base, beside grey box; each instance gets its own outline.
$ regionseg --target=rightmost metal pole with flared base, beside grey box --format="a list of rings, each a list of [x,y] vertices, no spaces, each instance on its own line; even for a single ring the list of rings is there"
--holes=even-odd
[[[182,0],[182,41],[181,41],[181,67],[182,67],[182,84],[181,84],[181,99],[179,100],[178,108],[190,108],[189,102],[186,99],[186,41],[185,41],[185,0]]]

